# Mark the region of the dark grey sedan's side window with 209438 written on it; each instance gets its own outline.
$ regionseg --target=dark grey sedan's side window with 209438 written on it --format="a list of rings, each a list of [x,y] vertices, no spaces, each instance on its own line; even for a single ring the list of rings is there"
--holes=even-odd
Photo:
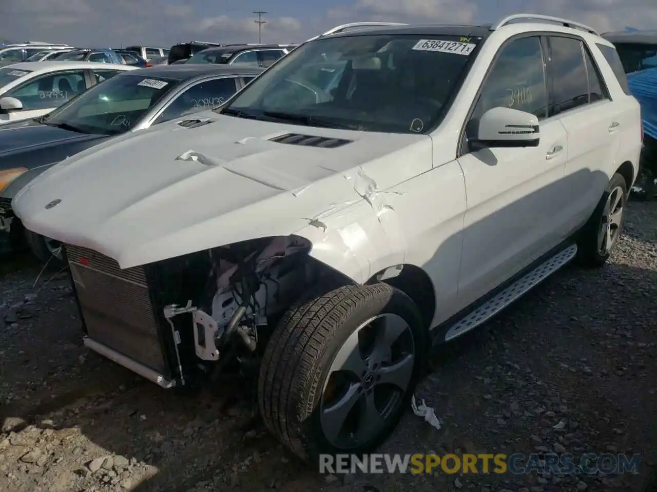
[[[198,83],[175,98],[153,124],[197,111],[210,110],[223,104],[235,92],[237,92],[237,87],[233,77]]]

